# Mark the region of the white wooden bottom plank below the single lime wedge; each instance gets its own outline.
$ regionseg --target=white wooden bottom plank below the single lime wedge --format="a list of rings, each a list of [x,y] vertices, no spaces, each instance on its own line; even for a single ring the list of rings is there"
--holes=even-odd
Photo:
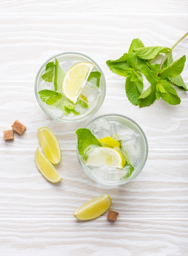
[[[1,219],[1,253],[4,256],[187,255],[187,220],[119,217],[114,223],[106,216],[107,213],[90,222],[71,218],[26,218],[21,222],[14,218]]]

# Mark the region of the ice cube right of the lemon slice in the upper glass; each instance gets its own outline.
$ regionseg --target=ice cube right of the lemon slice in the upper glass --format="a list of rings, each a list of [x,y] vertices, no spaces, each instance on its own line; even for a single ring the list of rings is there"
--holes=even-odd
[[[81,97],[83,99],[87,99],[88,105],[89,106],[91,105],[90,108],[94,108],[94,106],[96,106],[96,103],[100,98],[100,96],[101,96],[100,90],[92,87],[89,84],[86,84],[81,91]]]

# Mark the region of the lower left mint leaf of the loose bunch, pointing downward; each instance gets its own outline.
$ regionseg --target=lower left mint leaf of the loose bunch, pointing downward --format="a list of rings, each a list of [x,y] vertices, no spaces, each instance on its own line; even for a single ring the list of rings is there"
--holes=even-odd
[[[127,77],[125,82],[125,91],[127,98],[133,105],[138,105],[138,97],[142,93],[143,88],[142,76],[140,76],[137,81],[131,81],[131,77]]]

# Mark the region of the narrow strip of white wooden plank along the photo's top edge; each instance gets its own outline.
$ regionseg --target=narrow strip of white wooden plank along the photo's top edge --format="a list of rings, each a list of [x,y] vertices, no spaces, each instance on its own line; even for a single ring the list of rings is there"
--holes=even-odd
[[[97,0],[88,2],[85,0],[2,0],[1,12],[12,13],[186,13],[187,1],[175,0]]]

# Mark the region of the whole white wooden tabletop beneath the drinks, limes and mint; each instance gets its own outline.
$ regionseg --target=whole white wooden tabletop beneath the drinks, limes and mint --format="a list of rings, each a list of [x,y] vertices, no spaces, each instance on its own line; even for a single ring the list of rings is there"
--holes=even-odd
[[[131,40],[171,47],[188,30],[188,0],[0,1],[0,255],[1,256],[187,256],[188,255],[188,93],[181,103],[162,100],[133,106],[125,79],[108,59],[127,52]],[[39,67],[60,52],[82,52],[105,74],[105,101],[90,119],[65,124],[38,106],[34,93]],[[174,49],[186,54],[188,38]],[[188,86],[188,61],[182,77]],[[144,130],[149,155],[140,175],[107,187],[90,180],[76,156],[77,128],[98,115],[118,113]],[[15,120],[26,127],[14,141],[3,130]],[[37,129],[47,126],[59,139],[63,180],[52,184],[37,170]],[[79,222],[74,209],[109,193],[116,222],[107,213]]]

